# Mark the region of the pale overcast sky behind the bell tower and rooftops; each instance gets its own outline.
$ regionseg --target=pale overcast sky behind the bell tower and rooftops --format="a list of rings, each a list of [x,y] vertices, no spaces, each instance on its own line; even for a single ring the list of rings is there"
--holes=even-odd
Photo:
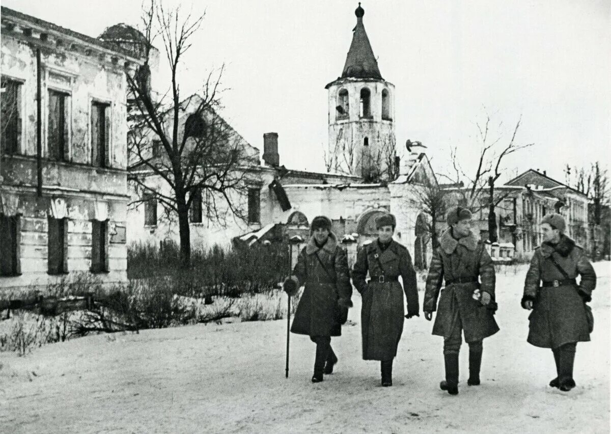
[[[177,1],[166,1],[168,6]],[[140,0],[2,0],[2,5],[97,36],[137,24]],[[356,1],[193,2],[207,14],[186,56],[185,96],[225,64],[223,115],[263,150],[279,134],[280,163],[322,170],[327,91],[342,73]],[[362,1],[382,76],[396,87],[397,142],[422,141],[436,172],[458,146],[477,153],[485,107],[494,133],[535,145],[507,158],[507,176],[529,168],[565,180],[563,167],[611,156],[611,0]],[[191,3],[183,1],[183,8]],[[475,157],[474,157],[475,158]],[[473,160],[473,158],[471,159]]]

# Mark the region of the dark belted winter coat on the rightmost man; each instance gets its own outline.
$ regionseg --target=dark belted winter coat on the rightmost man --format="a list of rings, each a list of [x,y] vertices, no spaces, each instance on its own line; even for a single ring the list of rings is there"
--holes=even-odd
[[[569,279],[580,275],[579,285],[540,287],[540,281],[566,279],[552,263],[551,257],[565,270]],[[529,315],[527,341],[535,347],[557,348],[569,342],[590,340],[584,300],[591,300],[595,287],[594,268],[584,250],[576,246],[571,238],[562,235],[557,245],[543,243],[536,248],[526,273],[522,297],[522,307],[527,300],[534,303]]]

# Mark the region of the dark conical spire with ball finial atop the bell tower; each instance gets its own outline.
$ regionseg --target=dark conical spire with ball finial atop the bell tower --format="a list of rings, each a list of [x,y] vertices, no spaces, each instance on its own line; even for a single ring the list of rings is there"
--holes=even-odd
[[[373,56],[373,50],[371,50],[371,44],[365,32],[365,26],[363,25],[363,15],[365,10],[360,7],[354,11],[356,15],[356,27],[353,29],[354,35],[352,37],[352,43],[350,44],[350,50],[348,50],[348,56],[346,56],[346,64],[344,65],[342,78],[353,77],[353,78],[382,78],[380,70],[378,68],[378,61]]]

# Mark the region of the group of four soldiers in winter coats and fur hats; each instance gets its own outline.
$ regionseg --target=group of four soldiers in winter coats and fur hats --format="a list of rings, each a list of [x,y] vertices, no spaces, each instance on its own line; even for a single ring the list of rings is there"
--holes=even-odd
[[[433,312],[437,312],[433,334],[444,337],[445,362],[445,380],[439,386],[452,395],[458,394],[458,355],[463,332],[469,345],[467,384],[477,386],[483,339],[499,331],[494,319],[494,265],[484,243],[471,230],[471,217],[467,208],[448,211],[448,227],[433,251],[423,303],[426,320],[431,321]],[[331,337],[340,336],[348,318],[348,309],[353,306],[353,285],[362,296],[362,356],[380,361],[382,386],[392,386],[392,364],[404,318],[420,316],[411,256],[392,238],[395,218],[384,214],[375,223],[378,238],[362,246],[350,273],[346,253],[331,231],[331,221],[325,216],[314,218],[307,245],[284,282],[290,296],[305,286],[291,332],[309,335],[316,344],[313,383],[331,374],[338,361]],[[596,274],[583,249],[565,235],[565,227],[561,215],[550,214],[542,219],[543,243],[535,249],[530,262],[521,304],[532,310],[527,341],[536,347],[551,348],[554,354],[557,372],[549,385],[569,391],[575,387],[576,344],[590,340],[591,311],[585,303],[591,300]]]

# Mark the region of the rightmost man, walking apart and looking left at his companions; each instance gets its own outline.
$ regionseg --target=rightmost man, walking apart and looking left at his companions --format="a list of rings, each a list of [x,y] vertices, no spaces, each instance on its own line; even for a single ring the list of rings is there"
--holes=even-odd
[[[596,273],[584,249],[564,235],[565,226],[558,214],[541,219],[544,241],[530,261],[522,307],[533,310],[527,341],[535,347],[552,348],[554,353],[557,376],[549,385],[568,392],[575,387],[577,342],[590,340],[585,303],[592,299]]]

